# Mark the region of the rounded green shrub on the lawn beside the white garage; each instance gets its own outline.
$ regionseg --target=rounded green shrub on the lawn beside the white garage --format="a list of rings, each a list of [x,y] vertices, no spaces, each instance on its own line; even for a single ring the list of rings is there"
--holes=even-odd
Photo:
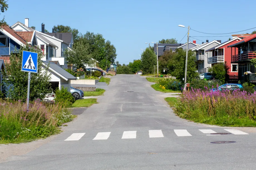
[[[55,90],[55,102],[60,103],[61,105],[65,107],[70,107],[74,102],[75,98],[72,96],[70,92],[68,92],[67,87],[66,88],[57,88]]]

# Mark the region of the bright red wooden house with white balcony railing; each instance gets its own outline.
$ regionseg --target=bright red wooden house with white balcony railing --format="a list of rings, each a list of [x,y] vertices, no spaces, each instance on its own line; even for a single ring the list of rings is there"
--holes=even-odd
[[[228,48],[228,46],[236,44],[240,40],[240,37],[236,37],[206,50],[206,52],[212,53],[212,57],[208,58],[208,64],[214,65],[220,62],[227,62],[229,75],[238,75],[238,64],[231,63],[231,55],[232,53],[235,54],[235,50],[238,51],[238,49]]]

